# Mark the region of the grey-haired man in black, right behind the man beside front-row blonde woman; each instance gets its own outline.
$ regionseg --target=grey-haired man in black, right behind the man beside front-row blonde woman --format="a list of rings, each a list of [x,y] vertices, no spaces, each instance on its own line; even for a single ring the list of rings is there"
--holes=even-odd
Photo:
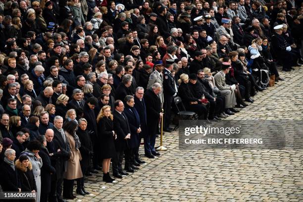
[[[133,77],[130,74],[126,74],[122,78],[122,82],[119,84],[118,88],[115,90],[115,100],[121,100],[123,102],[127,95],[132,95],[131,89]],[[126,103],[126,102],[125,102]]]

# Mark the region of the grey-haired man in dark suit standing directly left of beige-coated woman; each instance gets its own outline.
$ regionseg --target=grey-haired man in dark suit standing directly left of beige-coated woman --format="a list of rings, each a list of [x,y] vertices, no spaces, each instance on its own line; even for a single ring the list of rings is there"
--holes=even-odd
[[[53,119],[53,132],[54,140],[58,142],[58,147],[60,149],[61,155],[59,156],[59,167],[56,169],[57,172],[57,201],[65,202],[62,199],[62,183],[63,183],[63,174],[67,171],[67,160],[70,157],[70,148],[68,140],[65,137],[65,133],[62,129],[63,118],[61,116],[55,116]]]

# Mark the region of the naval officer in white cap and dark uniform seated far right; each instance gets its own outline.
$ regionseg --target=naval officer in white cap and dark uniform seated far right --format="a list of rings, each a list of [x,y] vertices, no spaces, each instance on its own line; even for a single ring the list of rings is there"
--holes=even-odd
[[[271,44],[272,44],[273,50],[276,51],[277,56],[279,58],[281,58],[281,60],[282,60],[282,63],[283,63],[282,70],[291,71],[291,69],[293,69],[293,68],[292,68],[292,63],[290,61],[293,61],[295,64],[297,64],[298,57],[282,35],[283,25],[275,26],[274,31],[275,31],[275,33],[271,37]]]

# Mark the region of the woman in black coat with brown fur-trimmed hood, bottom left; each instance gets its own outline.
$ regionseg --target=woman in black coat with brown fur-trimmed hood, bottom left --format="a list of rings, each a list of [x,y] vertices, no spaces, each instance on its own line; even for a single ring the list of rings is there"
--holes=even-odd
[[[18,177],[21,183],[21,192],[37,192],[36,181],[33,173],[32,163],[27,155],[21,155],[15,162]],[[33,202],[33,200],[26,200]]]

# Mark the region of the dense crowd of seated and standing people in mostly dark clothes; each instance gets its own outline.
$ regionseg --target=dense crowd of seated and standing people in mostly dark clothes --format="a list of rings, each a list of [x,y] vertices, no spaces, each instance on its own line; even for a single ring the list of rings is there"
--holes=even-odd
[[[211,124],[301,66],[302,20],[302,0],[0,0],[1,190],[64,202],[135,172],[176,97]]]

